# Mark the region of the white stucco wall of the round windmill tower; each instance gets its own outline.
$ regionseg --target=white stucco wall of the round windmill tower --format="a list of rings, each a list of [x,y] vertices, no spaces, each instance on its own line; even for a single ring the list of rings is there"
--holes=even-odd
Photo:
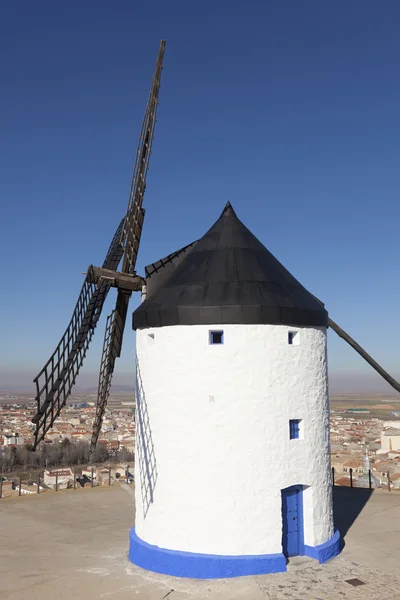
[[[224,344],[210,345],[210,330]],[[188,552],[281,552],[281,490],[301,484],[305,543],[327,541],[326,329],[173,326],[136,340],[138,536]],[[289,419],[302,419],[303,439],[289,439]]]

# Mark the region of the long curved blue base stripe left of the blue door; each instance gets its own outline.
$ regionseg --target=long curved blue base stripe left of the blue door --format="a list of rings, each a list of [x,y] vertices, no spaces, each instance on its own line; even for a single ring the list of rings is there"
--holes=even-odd
[[[130,531],[129,560],[149,571],[193,579],[218,579],[286,571],[286,558],[283,554],[220,556],[167,550],[141,540],[134,527]]]

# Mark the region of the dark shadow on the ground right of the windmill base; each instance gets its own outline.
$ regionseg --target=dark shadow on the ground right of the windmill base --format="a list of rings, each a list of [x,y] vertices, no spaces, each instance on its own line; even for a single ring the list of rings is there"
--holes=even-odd
[[[362,488],[333,487],[333,518],[335,528],[340,531],[342,548],[343,538],[371,498],[373,490]]]

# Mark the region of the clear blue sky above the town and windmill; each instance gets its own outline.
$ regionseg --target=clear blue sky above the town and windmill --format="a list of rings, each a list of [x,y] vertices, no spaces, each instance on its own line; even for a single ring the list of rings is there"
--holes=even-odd
[[[103,260],[161,38],[139,271],[201,236],[230,200],[400,374],[397,0],[20,0],[2,3],[0,22],[3,381],[42,367],[82,271]],[[369,377],[333,333],[329,357],[332,373]],[[133,361],[129,317],[120,378]]]

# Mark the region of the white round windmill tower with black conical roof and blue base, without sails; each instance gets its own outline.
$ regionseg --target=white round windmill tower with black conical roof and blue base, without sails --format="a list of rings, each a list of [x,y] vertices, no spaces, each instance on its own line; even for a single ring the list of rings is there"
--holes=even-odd
[[[336,555],[324,307],[229,204],[146,275],[130,559],[213,578]]]

